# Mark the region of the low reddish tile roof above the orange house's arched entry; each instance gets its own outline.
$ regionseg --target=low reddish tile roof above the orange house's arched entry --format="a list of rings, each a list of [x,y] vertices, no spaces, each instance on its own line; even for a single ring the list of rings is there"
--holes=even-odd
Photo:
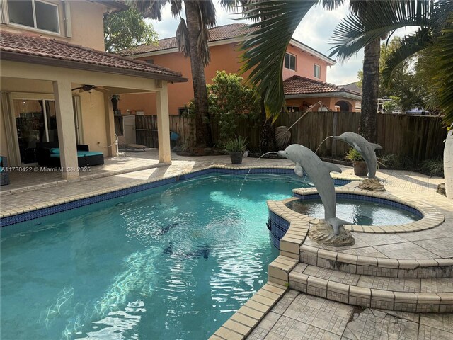
[[[361,96],[360,93],[350,89],[301,76],[292,76],[283,81],[283,91],[285,96],[292,94],[325,94],[328,92],[346,92]]]

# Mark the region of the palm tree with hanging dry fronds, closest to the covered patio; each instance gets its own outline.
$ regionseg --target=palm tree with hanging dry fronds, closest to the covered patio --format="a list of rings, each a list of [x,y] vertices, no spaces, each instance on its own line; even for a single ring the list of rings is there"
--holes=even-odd
[[[231,6],[232,1],[221,0],[224,7]],[[234,1],[233,1],[234,2]],[[185,56],[190,56],[192,71],[193,94],[195,103],[195,144],[197,147],[212,146],[212,135],[209,122],[209,107],[207,103],[205,66],[210,62],[210,49],[207,45],[209,28],[215,26],[215,7],[212,0],[129,0],[130,6],[137,8],[144,18],[161,20],[162,8],[171,6],[174,18],[180,18],[176,30],[178,49]],[[185,7],[186,21],[180,16]]]

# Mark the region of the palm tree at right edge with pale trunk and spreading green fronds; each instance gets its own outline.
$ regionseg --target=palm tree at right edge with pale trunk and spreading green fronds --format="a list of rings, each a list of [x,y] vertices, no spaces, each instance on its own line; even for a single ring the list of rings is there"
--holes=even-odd
[[[431,61],[428,92],[431,106],[445,114],[445,125],[453,128],[453,1],[407,1],[397,11],[384,3],[365,21],[358,24],[345,18],[336,31],[338,55],[348,57],[383,33],[405,26],[418,26],[403,38],[401,47],[389,55],[383,72],[384,84],[391,81],[393,70],[418,52],[427,53]],[[447,132],[444,150],[444,176],[447,198],[453,199],[453,130]]]

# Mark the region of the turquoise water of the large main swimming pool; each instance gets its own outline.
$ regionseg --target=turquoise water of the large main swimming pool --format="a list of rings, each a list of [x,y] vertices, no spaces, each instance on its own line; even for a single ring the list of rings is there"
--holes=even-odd
[[[266,200],[290,175],[219,175],[1,229],[1,339],[207,339],[267,280]]]

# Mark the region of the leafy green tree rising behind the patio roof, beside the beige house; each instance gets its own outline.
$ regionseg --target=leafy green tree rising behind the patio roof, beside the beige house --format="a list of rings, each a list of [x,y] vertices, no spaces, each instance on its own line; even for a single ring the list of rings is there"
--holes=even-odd
[[[141,44],[156,44],[157,33],[151,23],[134,8],[104,16],[105,50],[116,53]]]

